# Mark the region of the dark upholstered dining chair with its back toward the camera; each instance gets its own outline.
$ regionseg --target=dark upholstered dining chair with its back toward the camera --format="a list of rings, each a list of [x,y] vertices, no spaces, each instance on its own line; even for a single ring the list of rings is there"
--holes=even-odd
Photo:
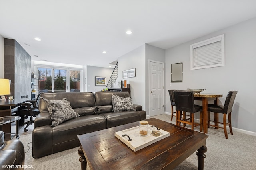
[[[203,130],[202,124],[202,106],[194,104],[194,93],[192,91],[174,91],[175,106],[176,106],[176,125],[180,126],[180,123],[191,125],[191,129],[200,125],[200,132]],[[181,113],[190,113],[190,121],[187,119],[181,119]],[[200,123],[194,122],[194,113],[200,112]]]

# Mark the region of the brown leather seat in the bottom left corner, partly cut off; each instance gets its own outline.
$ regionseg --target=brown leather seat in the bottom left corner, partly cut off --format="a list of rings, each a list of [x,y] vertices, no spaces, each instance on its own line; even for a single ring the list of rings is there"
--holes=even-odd
[[[25,152],[18,139],[4,141],[4,132],[0,131],[0,169],[23,170]]]

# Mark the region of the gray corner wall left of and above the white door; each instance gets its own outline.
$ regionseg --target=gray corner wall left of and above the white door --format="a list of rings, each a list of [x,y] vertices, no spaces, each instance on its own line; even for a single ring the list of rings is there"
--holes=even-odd
[[[149,60],[165,61],[165,50],[144,44],[118,58],[118,79],[127,80],[131,87],[131,97],[134,104],[142,105],[149,115]],[[122,71],[136,68],[136,77],[122,78]]]

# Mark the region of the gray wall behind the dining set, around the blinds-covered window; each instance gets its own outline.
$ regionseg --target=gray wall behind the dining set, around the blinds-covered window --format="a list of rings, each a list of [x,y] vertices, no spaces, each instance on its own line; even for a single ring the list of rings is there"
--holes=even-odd
[[[225,66],[190,70],[190,44],[225,34]],[[232,127],[256,132],[256,18],[222,29],[166,50],[166,106],[170,106],[168,89],[206,88],[205,92],[223,94],[224,104],[230,90],[238,94],[232,111]],[[170,86],[170,65],[183,62],[183,82]],[[165,108],[171,112],[170,107]]]

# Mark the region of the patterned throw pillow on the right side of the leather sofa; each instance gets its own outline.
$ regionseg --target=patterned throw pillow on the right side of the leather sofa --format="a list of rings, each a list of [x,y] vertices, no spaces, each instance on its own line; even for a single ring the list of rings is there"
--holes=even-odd
[[[132,99],[130,97],[123,98],[112,94],[112,105],[113,105],[113,112],[117,111],[136,111],[132,104]]]

